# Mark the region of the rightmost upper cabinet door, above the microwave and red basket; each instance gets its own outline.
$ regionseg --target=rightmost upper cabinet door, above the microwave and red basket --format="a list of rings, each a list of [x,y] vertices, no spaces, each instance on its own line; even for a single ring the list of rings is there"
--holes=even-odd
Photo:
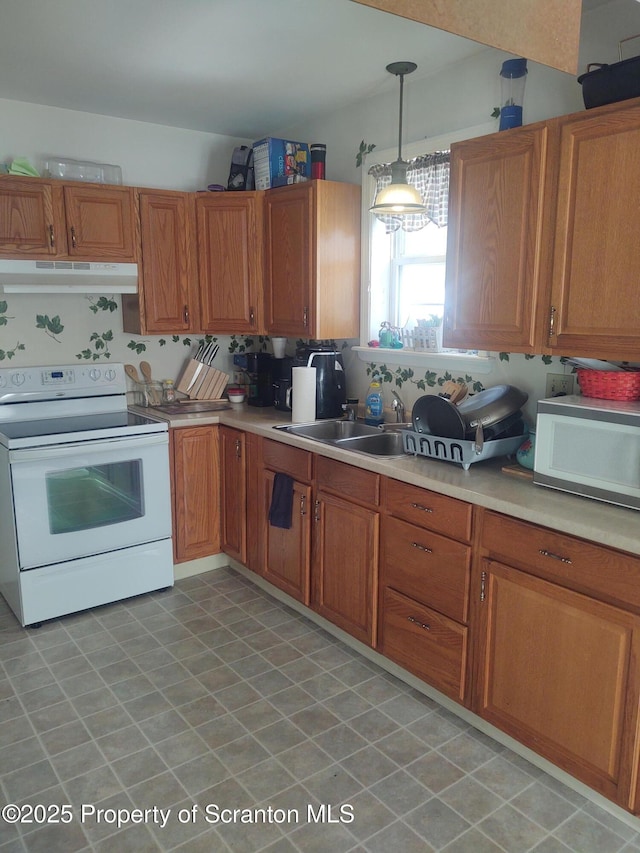
[[[563,355],[636,359],[640,105],[560,126],[550,343]]]

